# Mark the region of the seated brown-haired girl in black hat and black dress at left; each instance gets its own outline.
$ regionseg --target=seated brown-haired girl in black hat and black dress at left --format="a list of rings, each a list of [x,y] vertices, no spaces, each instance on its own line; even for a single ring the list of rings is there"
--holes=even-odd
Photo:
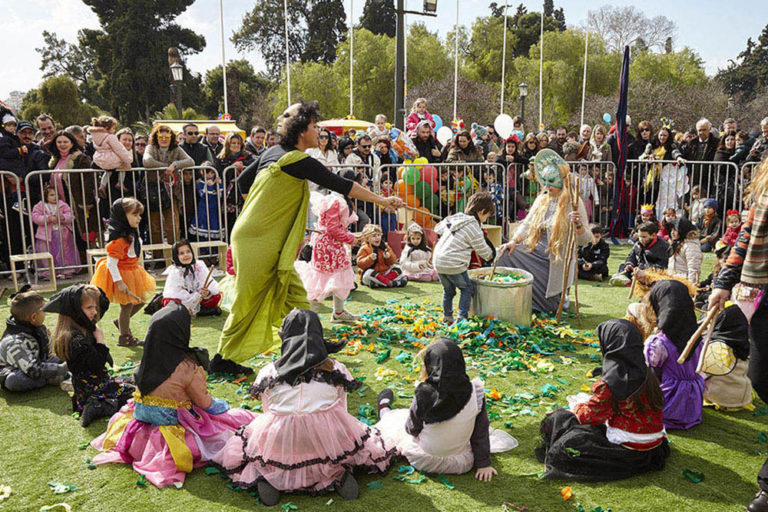
[[[112,416],[135,389],[115,381],[107,372],[107,364],[114,363],[104,344],[104,333],[96,325],[107,309],[109,299],[104,292],[88,284],[64,288],[43,307],[43,311],[59,315],[53,353],[67,362],[72,373],[72,410],[82,412],[83,427],[96,418]]]

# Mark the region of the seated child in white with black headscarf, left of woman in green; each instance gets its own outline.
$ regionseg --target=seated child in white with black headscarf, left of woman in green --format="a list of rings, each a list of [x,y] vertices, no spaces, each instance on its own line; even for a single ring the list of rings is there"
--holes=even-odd
[[[208,275],[205,263],[195,259],[192,245],[186,240],[179,240],[171,248],[171,257],[173,265],[163,272],[167,276],[163,288],[163,306],[178,302],[192,316],[220,315],[219,285]]]

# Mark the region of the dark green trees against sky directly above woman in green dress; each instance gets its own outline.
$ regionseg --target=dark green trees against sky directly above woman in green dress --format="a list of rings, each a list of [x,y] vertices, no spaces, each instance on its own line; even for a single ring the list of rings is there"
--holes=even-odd
[[[291,62],[330,63],[346,33],[341,0],[288,0],[288,53]],[[240,51],[258,50],[270,74],[285,65],[283,0],[264,0],[243,16],[232,42]]]

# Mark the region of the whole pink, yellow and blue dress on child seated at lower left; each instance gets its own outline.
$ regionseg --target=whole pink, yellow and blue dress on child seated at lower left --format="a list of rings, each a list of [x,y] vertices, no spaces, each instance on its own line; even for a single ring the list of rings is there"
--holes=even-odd
[[[254,417],[212,398],[203,369],[184,361],[152,394],[136,391],[110,418],[107,431],[91,442],[102,450],[93,462],[132,464],[157,487],[180,486],[187,473],[207,465]]]

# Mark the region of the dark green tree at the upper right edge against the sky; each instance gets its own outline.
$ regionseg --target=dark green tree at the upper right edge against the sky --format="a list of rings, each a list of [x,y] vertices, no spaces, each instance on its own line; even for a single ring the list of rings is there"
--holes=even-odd
[[[747,39],[747,47],[738,60],[730,61],[716,78],[731,95],[741,94],[745,99],[753,99],[765,94],[768,86],[768,25],[757,43],[752,38]]]

